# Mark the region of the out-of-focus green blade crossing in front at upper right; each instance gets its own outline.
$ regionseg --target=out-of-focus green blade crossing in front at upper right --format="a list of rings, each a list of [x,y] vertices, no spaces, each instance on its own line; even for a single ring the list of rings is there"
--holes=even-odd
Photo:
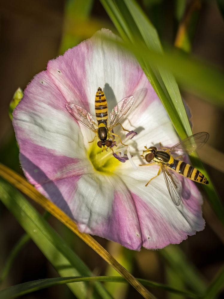
[[[146,47],[137,49],[135,46],[132,50],[148,60],[148,63],[170,70],[184,89],[190,89],[211,104],[224,107],[224,75],[207,62],[170,49],[166,50],[165,55],[150,51]]]

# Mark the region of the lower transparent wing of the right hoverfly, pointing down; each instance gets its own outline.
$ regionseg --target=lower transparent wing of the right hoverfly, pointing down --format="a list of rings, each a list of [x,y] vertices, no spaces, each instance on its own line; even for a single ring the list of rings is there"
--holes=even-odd
[[[161,166],[169,195],[176,206],[181,203],[181,186],[174,172],[169,172],[166,166]]]

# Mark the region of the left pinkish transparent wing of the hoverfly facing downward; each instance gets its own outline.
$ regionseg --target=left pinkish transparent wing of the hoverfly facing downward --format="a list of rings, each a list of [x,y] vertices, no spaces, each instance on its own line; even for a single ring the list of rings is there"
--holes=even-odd
[[[81,122],[84,126],[92,130],[93,132],[96,131],[96,128],[94,126],[94,121],[93,121],[93,116],[86,111],[84,108],[81,106],[78,106],[73,103],[67,103],[65,104],[66,109],[68,112],[75,117],[75,119],[78,120],[78,122]]]

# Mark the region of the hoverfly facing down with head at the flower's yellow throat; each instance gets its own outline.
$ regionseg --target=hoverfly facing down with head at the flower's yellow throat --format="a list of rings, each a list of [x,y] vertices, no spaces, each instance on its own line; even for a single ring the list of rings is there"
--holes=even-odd
[[[96,120],[98,125],[93,121],[93,116],[86,111],[81,106],[78,106],[73,103],[67,103],[65,104],[66,109],[68,112],[78,120],[81,124],[85,125],[87,128],[92,130],[97,136],[99,141],[97,142],[97,145],[99,148],[102,148],[102,151],[111,148],[113,145],[116,145],[116,142],[114,141],[113,136],[117,136],[120,139],[120,142],[122,143],[122,140],[119,135],[113,133],[113,128],[117,125],[120,125],[121,128],[124,131],[130,132],[129,130],[125,130],[122,125],[120,124],[121,119],[125,114],[128,112],[128,110],[131,108],[131,105],[134,102],[134,97],[129,96],[127,98],[123,98],[121,101],[117,103],[117,105],[112,109],[110,115],[109,115],[109,123],[108,123],[108,105],[107,100],[105,97],[104,92],[99,87],[96,92],[95,97],[95,113],[96,113]],[[112,135],[112,136],[111,136]],[[90,142],[93,142],[94,139]],[[124,143],[122,143],[125,145]]]

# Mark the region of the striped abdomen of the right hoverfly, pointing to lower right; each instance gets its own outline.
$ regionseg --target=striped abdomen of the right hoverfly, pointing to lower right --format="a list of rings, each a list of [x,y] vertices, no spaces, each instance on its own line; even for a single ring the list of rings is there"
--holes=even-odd
[[[190,180],[208,185],[208,180],[206,179],[204,174],[202,174],[199,170],[183,161],[174,159],[173,163],[168,164],[167,166],[175,170],[179,174],[183,175],[184,177],[188,177]]]

